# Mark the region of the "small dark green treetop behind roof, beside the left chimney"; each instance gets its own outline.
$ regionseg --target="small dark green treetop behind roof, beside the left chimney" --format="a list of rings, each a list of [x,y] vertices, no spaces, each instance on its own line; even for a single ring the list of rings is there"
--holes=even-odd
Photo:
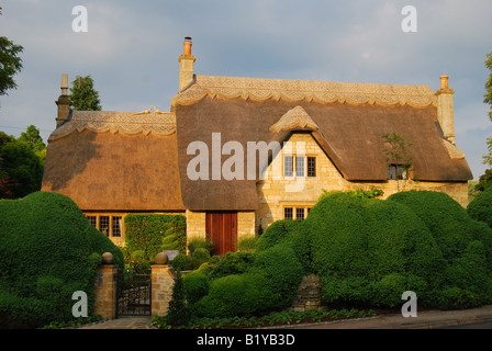
[[[71,82],[70,100],[76,111],[101,111],[99,92],[90,76],[77,78]]]

